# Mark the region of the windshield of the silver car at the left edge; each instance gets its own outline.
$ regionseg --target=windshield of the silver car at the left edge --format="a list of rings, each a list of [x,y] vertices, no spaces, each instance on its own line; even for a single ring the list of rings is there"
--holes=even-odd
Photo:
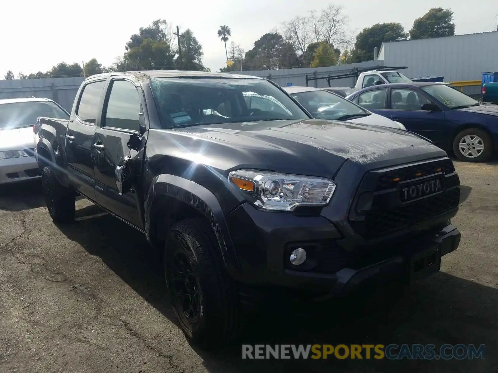
[[[12,129],[36,124],[36,118],[69,119],[69,115],[50,101],[25,101],[0,104],[0,128]]]

